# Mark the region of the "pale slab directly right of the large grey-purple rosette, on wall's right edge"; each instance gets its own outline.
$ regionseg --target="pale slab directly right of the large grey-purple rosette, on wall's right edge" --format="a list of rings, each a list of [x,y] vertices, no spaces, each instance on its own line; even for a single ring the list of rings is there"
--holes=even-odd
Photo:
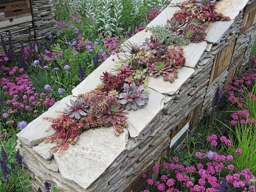
[[[131,138],[136,138],[142,134],[146,126],[156,118],[164,108],[164,95],[151,90],[148,94],[148,102],[143,108],[138,110],[130,110],[126,115],[129,123],[127,129]]]

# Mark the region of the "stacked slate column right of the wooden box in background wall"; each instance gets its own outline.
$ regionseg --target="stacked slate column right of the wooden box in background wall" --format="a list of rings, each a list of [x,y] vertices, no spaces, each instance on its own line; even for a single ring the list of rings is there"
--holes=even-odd
[[[34,14],[34,25],[36,39],[42,39],[49,31],[56,28],[53,18],[53,7],[51,0],[31,0]]]

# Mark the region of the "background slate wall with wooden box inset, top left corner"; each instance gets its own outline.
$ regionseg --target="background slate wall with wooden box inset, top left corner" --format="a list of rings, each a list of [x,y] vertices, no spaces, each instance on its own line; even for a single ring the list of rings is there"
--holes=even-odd
[[[9,50],[9,34],[12,36],[13,50],[20,50],[20,42],[28,47],[30,40],[40,40],[46,33],[56,28],[51,0],[14,0],[0,3],[0,35]],[[0,56],[4,53],[0,49]]]

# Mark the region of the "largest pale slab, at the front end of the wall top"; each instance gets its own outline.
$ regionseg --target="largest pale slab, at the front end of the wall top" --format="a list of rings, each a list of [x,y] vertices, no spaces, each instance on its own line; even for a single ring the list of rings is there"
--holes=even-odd
[[[125,150],[128,136],[126,129],[115,136],[111,127],[83,132],[78,144],[69,146],[60,156],[54,154],[61,176],[86,190]]]

